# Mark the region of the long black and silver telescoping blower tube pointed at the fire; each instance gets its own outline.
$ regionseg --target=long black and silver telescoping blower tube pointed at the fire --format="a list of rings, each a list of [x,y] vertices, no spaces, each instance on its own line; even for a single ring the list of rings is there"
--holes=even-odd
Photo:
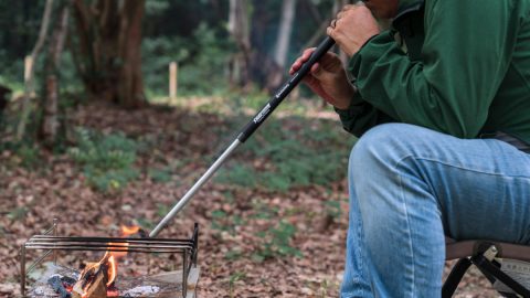
[[[268,100],[268,103],[254,116],[254,118],[243,128],[237,138],[224,150],[224,152],[215,160],[215,162],[208,169],[208,171],[193,184],[193,187],[180,199],[180,201],[171,209],[171,211],[163,217],[160,223],[152,230],[149,234],[149,237],[156,237],[163,227],[179,213],[186,204],[193,198],[193,195],[199,191],[199,189],[208,181],[210,178],[221,168],[221,166],[229,159],[230,155],[237,148],[241,143],[245,142],[248,137],[256,131],[256,129],[267,119],[267,117],[276,109],[279,104],[289,95],[289,93],[301,82],[304,76],[306,76],[311,70],[312,65],[318,62],[324,54],[326,54],[331,46],[333,46],[335,41],[331,38],[326,38],[312,52],[309,60],[304,63],[298,72],[296,72],[287,83],[285,83],[282,88],[276,93],[276,95]]]

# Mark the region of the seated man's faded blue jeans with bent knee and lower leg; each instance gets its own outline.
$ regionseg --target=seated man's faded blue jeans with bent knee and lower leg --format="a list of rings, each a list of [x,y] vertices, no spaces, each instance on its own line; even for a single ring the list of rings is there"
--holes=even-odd
[[[445,237],[530,244],[530,155],[386,124],[354,146],[341,297],[439,297]]]

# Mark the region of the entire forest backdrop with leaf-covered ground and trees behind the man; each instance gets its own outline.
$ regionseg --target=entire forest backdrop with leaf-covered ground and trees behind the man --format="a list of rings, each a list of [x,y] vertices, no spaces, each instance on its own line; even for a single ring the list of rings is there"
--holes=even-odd
[[[349,2],[0,1],[0,294],[53,217],[151,230]],[[201,297],[338,296],[354,138],[290,97],[161,234],[200,224]]]

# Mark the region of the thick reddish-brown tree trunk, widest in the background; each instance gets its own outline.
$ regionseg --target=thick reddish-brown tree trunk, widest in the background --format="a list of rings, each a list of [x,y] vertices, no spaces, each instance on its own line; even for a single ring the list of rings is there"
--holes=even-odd
[[[136,108],[147,104],[141,75],[145,0],[74,0],[75,64],[93,98]]]

